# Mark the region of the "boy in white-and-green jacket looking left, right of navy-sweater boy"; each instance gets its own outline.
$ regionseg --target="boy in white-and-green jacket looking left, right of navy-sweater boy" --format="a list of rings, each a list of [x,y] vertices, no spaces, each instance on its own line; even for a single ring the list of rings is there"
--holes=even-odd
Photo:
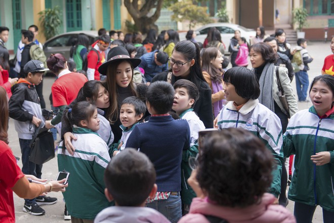
[[[192,169],[189,167],[189,158],[196,157],[198,154],[197,140],[198,131],[205,129],[203,122],[199,119],[193,111],[193,107],[199,98],[199,91],[197,86],[190,80],[180,79],[174,83],[174,102],[173,110],[182,119],[186,119],[190,128],[190,145],[188,150],[183,150],[181,163],[181,200],[182,213],[187,214],[189,206],[194,197],[195,192],[188,185],[187,180],[191,174]]]

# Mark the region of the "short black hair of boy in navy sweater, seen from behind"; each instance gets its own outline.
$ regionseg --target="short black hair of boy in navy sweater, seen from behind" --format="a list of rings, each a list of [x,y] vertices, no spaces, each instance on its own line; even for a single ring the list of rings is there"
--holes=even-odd
[[[148,86],[146,101],[158,114],[166,114],[172,110],[175,91],[166,81],[156,81]]]

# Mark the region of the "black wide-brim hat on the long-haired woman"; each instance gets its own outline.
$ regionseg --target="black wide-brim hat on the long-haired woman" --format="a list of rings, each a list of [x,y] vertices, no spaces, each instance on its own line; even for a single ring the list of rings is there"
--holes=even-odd
[[[129,61],[133,68],[138,67],[142,62],[139,58],[131,58],[127,49],[123,47],[114,47],[108,52],[108,61],[99,67],[99,73],[106,75],[108,66],[118,61]]]

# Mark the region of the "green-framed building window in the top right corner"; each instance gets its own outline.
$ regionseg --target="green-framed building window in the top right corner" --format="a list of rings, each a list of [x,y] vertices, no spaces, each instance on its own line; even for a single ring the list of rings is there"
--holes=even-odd
[[[334,0],[304,0],[304,8],[311,16],[333,15]]]

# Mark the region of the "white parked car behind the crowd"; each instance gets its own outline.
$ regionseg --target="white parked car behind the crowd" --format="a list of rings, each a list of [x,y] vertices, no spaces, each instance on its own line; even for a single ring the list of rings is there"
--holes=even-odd
[[[230,45],[230,39],[234,36],[234,31],[239,30],[242,37],[245,37],[245,39],[249,43],[249,39],[254,37],[256,35],[256,31],[254,29],[247,29],[243,26],[232,24],[232,23],[209,23],[206,25],[203,25],[202,27],[196,29],[197,36],[195,37],[195,40],[198,42],[203,43],[204,39],[207,36],[207,32],[210,30],[211,27],[216,27],[220,32],[222,36],[222,41],[224,42],[226,46],[226,51],[228,51],[228,47]],[[180,40],[186,39],[186,32],[179,33]]]

